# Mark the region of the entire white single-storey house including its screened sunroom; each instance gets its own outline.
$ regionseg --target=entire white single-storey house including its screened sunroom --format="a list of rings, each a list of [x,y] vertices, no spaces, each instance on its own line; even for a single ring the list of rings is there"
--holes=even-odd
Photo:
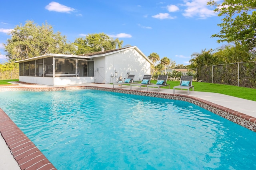
[[[83,55],[48,54],[16,63],[20,64],[20,81],[50,86],[110,84],[128,74],[135,74],[138,81],[150,74],[153,65],[136,46]]]

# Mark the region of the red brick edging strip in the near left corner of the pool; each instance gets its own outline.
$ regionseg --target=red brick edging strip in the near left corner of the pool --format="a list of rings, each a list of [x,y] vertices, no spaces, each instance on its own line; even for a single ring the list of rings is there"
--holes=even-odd
[[[0,133],[22,170],[56,170],[52,163],[28,139],[0,108]]]

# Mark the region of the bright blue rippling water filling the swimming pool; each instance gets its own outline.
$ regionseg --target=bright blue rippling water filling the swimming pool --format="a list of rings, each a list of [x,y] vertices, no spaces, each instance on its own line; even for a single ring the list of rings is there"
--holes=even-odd
[[[104,92],[1,92],[58,170],[256,169],[256,133],[188,102]]]

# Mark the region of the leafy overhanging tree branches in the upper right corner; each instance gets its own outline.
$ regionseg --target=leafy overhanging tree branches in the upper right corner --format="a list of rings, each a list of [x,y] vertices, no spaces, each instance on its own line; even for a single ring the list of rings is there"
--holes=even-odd
[[[255,0],[224,0],[222,4],[212,0],[208,4],[216,6],[214,12],[218,12],[218,16],[224,16],[223,22],[218,24],[222,29],[212,35],[220,38],[218,43],[227,41],[246,45],[249,49],[256,47]]]

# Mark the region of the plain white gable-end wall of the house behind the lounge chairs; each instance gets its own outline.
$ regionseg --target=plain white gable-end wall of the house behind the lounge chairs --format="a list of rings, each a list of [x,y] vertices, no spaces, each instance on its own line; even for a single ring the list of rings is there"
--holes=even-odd
[[[117,82],[119,76],[127,78],[128,72],[135,75],[134,81],[142,80],[144,74],[150,74],[150,63],[134,48],[106,56],[107,83]]]

